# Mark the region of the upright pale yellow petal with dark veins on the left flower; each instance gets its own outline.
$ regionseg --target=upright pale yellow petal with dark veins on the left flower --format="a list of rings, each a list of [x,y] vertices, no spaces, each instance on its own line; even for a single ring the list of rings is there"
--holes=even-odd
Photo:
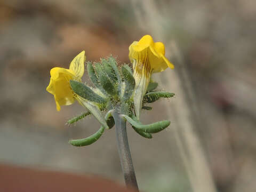
[[[81,79],[84,75],[84,61],[85,55],[84,51],[76,55],[76,57],[71,61],[69,69],[73,71],[77,78]]]

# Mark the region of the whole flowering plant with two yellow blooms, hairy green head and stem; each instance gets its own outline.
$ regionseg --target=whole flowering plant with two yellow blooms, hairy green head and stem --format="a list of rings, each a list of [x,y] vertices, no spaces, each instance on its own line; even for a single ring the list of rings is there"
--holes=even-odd
[[[151,74],[174,68],[165,58],[164,44],[154,43],[149,35],[129,47],[129,58],[133,63],[133,72],[128,65],[117,67],[115,58],[101,59],[100,62],[86,62],[87,73],[94,87],[82,83],[85,52],[79,53],[71,61],[69,69],[55,67],[51,69],[50,84],[46,90],[54,95],[57,110],[60,106],[71,105],[77,100],[87,112],[68,121],[73,124],[92,114],[101,124],[100,129],[84,139],[70,140],[73,146],[87,146],[97,141],[105,129],[116,126],[118,150],[127,185],[137,187],[135,173],[126,134],[126,122],[135,132],[145,138],[164,130],[170,121],[159,121],[143,125],[140,119],[141,109],[151,110],[147,103],[159,98],[170,98],[174,93],[156,91],[158,84],[151,80]],[[106,114],[103,115],[104,111]]]

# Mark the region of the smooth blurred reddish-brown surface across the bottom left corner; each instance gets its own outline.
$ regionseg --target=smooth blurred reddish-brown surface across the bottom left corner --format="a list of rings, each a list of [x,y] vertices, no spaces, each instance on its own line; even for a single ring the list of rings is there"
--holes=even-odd
[[[0,191],[131,192],[133,190],[99,177],[0,165]]]

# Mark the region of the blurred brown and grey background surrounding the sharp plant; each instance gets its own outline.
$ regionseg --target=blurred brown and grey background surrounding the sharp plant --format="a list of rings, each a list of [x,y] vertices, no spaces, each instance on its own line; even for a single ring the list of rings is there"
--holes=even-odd
[[[255,191],[255,17],[253,0],[2,0],[0,164],[124,185],[115,130],[91,146],[70,146],[100,125],[93,117],[66,125],[84,109],[75,103],[58,112],[45,89],[50,69],[68,68],[82,50],[86,60],[112,54],[130,63],[129,45],[149,34],[174,63],[155,79],[175,98],[142,113],[143,123],[171,121],[153,139],[127,127],[140,189]]]

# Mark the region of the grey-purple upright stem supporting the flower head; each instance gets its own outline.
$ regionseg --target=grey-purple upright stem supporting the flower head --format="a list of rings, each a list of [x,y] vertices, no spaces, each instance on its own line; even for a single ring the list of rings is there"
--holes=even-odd
[[[124,173],[124,180],[127,187],[132,187],[139,191],[126,133],[126,121],[122,117],[120,117],[121,113],[121,107],[116,106],[113,113],[113,117],[116,125],[117,147],[122,170]]]

